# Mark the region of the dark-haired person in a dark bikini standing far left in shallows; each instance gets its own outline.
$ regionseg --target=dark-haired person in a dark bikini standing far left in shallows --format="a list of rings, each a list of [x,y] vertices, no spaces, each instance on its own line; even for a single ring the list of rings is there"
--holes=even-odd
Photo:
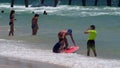
[[[9,31],[9,36],[14,36],[14,21],[16,20],[15,17],[14,17],[14,14],[15,14],[15,11],[14,10],[11,10],[10,12],[10,22],[9,22],[9,25],[10,25],[10,31]]]

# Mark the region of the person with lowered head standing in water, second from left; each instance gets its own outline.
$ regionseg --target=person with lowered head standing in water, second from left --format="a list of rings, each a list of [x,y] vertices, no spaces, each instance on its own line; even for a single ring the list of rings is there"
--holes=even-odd
[[[32,35],[36,35],[37,34],[37,31],[38,31],[38,17],[39,15],[38,14],[35,14],[34,17],[32,18]]]

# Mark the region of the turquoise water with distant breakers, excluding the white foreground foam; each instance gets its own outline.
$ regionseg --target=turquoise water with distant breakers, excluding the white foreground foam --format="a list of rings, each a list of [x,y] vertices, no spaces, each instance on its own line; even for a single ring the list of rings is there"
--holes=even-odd
[[[5,12],[0,15],[1,37],[6,38],[9,30],[9,11],[11,8],[2,6]],[[86,55],[87,35],[83,32],[89,25],[96,25],[98,36],[96,48],[98,56],[106,58],[119,58],[120,41],[120,19],[119,8],[116,7],[82,7],[82,6],[58,6],[58,7],[36,7],[22,8],[15,6],[15,37],[14,39],[24,40],[38,44],[45,43],[48,46],[43,48],[51,49],[57,42],[57,33],[62,29],[73,30],[73,36],[80,51],[78,53]],[[65,10],[66,9],[66,10]],[[31,36],[32,13],[39,13],[39,31],[36,37]],[[43,15],[46,10],[48,15]],[[3,23],[4,22],[4,23]],[[69,37],[68,37],[69,38]],[[70,44],[72,45],[71,41]],[[45,49],[46,49],[45,48]],[[108,55],[109,54],[109,55]]]

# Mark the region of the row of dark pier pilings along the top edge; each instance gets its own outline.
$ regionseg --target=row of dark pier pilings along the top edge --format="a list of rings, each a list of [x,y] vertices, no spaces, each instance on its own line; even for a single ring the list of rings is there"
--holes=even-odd
[[[39,0],[39,1],[40,1],[40,4],[45,3],[45,0]],[[53,0],[53,1],[54,1],[53,6],[56,7],[58,5],[59,0]],[[67,0],[67,1],[68,1],[68,5],[72,5],[73,0]],[[80,0],[80,1],[82,3],[82,6],[87,6],[86,4],[87,0]],[[99,1],[100,0],[94,0],[94,5],[91,5],[91,6],[97,6]],[[105,1],[106,1],[106,6],[112,6],[113,0],[105,0]],[[11,0],[11,7],[14,7],[14,2],[15,0]],[[24,0],[24,4],[25,4],[25,7],[28,7],[29,0]],[[120,0],[118,0],[117,6],[120,7]]]

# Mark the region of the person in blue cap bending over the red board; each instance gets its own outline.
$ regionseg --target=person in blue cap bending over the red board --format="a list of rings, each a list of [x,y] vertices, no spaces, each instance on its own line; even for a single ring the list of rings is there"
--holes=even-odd
[[[58,33],[58,39],[59,39],[59,41],[53,47],[53,52],[60,53],[60,52],[62,52],[62,50],[68,48],[69,44],[68,44],[68,40],[67,40],[66,36],[70,36],[73,44],[76,45],[76,43],[75,43],[75,41],[73,39],[73,36],[72,36],[72,30],[71,29],[61,30]]]

